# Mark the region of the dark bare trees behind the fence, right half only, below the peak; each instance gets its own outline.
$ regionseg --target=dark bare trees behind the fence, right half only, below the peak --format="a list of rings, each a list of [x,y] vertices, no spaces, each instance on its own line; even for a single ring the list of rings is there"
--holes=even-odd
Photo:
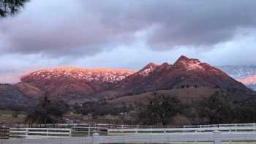
[[[138,110],[140,124],[147,125],[170,125],[178,115],[187,118],[189,124],[254,123],[256,101],[237,101],[227,91],[217,91],[192,102],[181,102],[169,94],[155,94]]]

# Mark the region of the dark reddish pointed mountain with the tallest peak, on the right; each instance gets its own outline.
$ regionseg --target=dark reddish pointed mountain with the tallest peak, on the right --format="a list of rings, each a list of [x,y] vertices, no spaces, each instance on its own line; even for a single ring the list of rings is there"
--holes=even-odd
[[[140,71],[139,71],[140,72]],[[220,87],[249,91],[242,83],[229,77],[222,70],[200,62],[195,58],[181,56],[172,65],[164,63],[156,67],[146,77],[140,77],[138,72],[122,80],[119,90],[127,93],[139,93],[158,89],[182,87]],[[137,81],[136,81],[137,80]]]

